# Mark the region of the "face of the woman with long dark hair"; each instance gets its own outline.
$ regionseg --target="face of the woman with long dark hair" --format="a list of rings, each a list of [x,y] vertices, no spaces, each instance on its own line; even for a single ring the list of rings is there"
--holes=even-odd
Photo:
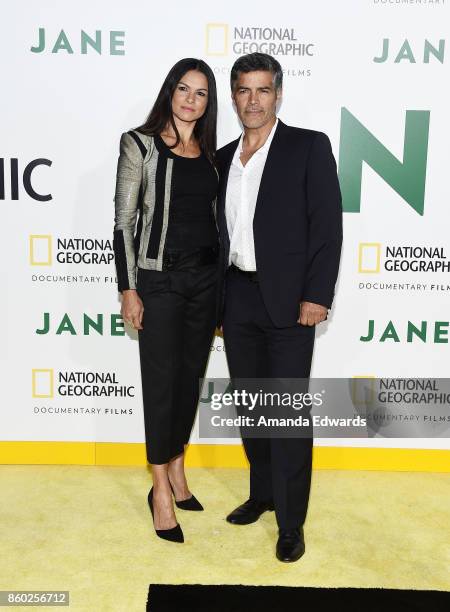
[[[181,121],[197,121],[208,105],[208,81],[203,72],[189,70],[172,96],[172,112]]]

